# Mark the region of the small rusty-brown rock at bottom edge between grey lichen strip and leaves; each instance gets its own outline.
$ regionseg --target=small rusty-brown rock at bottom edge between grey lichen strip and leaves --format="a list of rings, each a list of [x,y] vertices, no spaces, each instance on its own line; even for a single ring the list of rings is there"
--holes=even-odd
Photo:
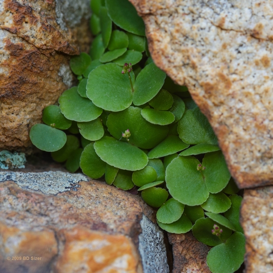
[[[207,255],[210,247],[198,242],[191,232],[185,234],[168,233],[173,245],[172,273],[210,273]]]

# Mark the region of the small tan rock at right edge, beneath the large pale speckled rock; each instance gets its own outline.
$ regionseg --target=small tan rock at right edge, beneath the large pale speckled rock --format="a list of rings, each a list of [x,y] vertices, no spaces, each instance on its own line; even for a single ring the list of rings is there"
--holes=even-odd
[[[246,238],[245,272],[273,272],[273,186],[245,190],[241,225]]]

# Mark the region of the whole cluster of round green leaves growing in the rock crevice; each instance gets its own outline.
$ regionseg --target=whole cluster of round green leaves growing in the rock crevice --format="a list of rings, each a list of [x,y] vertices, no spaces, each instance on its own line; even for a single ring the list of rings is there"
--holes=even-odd
[[[31,128],[32,143],[75,172],[138,187],[170,233],[213,246],[213,273],[243,263],[242,197],[206,117],[185,87],[149,57],[145,26],[128,0],[92,0],[90,54],[71,59],[79,84]]]

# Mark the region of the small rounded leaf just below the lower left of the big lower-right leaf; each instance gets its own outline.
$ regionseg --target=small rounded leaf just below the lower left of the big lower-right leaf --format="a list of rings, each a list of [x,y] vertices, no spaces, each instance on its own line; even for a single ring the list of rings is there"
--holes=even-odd
[[[174,198],[169,199],[156,212],[157,221],[163,224],[177,221],[183,214],[184,206]]]

